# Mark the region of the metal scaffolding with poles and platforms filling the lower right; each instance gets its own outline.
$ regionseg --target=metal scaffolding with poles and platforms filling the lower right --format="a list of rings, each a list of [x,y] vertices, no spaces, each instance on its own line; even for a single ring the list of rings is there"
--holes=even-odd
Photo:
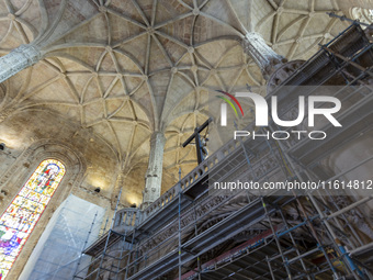
[[[338,115],[342,127],[326,125],[323,142],[247,137],[226,143],[144,211],[115,210],[109,232],[83,251],[92,256],[89,272],[78,271],[75,279],[373,279],[372,239],[348,216],[372,194],[348,201],[342,191],[320,184],[267,193],[228,193],[210,184],[233,179],[320,182],[323,176],[335,183],[372,160],[332,177],[319,171],[320,160],[372,131],[372,47],[353,24],[268,97],[279,97],[283,120],[296,108],[296,92],[289,86],[313,86],[303,88],[309,96],[338,82],[342,86],[334,96],[348,104]],[[273,123],[271,130],[276,130]],[[341,198],[349,203],[341,206]]]

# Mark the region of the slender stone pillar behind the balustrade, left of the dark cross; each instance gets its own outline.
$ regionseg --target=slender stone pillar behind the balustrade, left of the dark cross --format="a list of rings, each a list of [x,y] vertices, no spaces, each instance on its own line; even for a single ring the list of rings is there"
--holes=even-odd
[[[148,170],[145,177],[143,209],[160,197],[162,183],[162,165],[166,137],[161,132],[155,132],[150,138],[150,155]]]

